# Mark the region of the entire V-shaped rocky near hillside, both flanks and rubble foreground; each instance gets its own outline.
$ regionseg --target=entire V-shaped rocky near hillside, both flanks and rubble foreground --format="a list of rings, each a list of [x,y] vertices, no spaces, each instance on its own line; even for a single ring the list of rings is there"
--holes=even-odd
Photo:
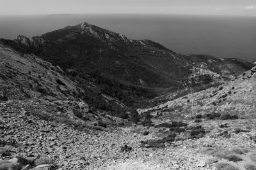
[[[256,168],[255,68],[141,125],[90,110],[60,68],[0,47],[0,169]]]

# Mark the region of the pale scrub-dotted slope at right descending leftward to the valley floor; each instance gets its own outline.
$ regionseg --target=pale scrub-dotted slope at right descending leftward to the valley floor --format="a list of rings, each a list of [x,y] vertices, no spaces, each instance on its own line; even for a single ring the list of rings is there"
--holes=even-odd
[[[166,101],[154,108],[140,110],[164,113],[166,117],[193,117],[198,114],[220,113],[239,115],[244,118],[255,117],[256,111],[256,67],[241,74],[236,80],[219,87],[213,87],[187,96]]]

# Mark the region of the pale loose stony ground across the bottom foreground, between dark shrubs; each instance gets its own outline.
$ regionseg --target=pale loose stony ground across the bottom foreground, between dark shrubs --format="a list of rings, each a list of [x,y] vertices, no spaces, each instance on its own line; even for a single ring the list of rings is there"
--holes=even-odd
[[[74,129],[56,120],[46,121],[25,105],[28,106],[25,101],[0,104],[0,139],[9,143],[4,148],[11,153],[1,159],[44,155],[54,160],[58,169],[216,169],[221,159],[200,152],[202,148],[241,148],[250,153],[256,146],[255,118],[204,120],[198,124],[186,120],[188,126],[202,125],[209,132],[200,139],[189,139],[188,133],[183,132],[178,135],[182,140],[165,143],[164,148],[145,148],[140,141],[159,139],[168,129],[142,125],[108,125],[95,129],[90,126],[92,121],[84,123],[86,126],[81,129]],[[44,107],[47,111],[49,106]],[[228,124],[228,128],[220,128],[220,124]],[[243,127],[246,132],[236,134],[237,127]],[[145,131],[149,132],[147,136],[143,135]],[[229,136],[221,136],[223,131]],[[121,152],[124,145],[131,146],[132,150]],[[248,162],[246,155],[244,157],[242,162],[230,164],[243,168]]]

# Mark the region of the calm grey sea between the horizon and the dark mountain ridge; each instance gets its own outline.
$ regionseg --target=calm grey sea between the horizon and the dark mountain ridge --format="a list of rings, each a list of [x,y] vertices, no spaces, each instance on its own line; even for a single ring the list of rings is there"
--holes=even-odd
[[[132,39],[152,39],[188,54],[256,60],[256,17],[196,15],[0,16],[0,37],[38,36],[86,21]]]

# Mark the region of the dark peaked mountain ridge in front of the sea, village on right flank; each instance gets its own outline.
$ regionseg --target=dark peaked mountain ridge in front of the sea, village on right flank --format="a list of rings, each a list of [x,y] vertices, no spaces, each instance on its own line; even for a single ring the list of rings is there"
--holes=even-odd
[[[63,70],[99,73],[124,83],[150,88],[230,80],[253,66],[239,59],[180,55],[148,39],[129,39],[86,22],[42,36],[19,36],[13,41],[1,41],[19,52],[34,53]]]

